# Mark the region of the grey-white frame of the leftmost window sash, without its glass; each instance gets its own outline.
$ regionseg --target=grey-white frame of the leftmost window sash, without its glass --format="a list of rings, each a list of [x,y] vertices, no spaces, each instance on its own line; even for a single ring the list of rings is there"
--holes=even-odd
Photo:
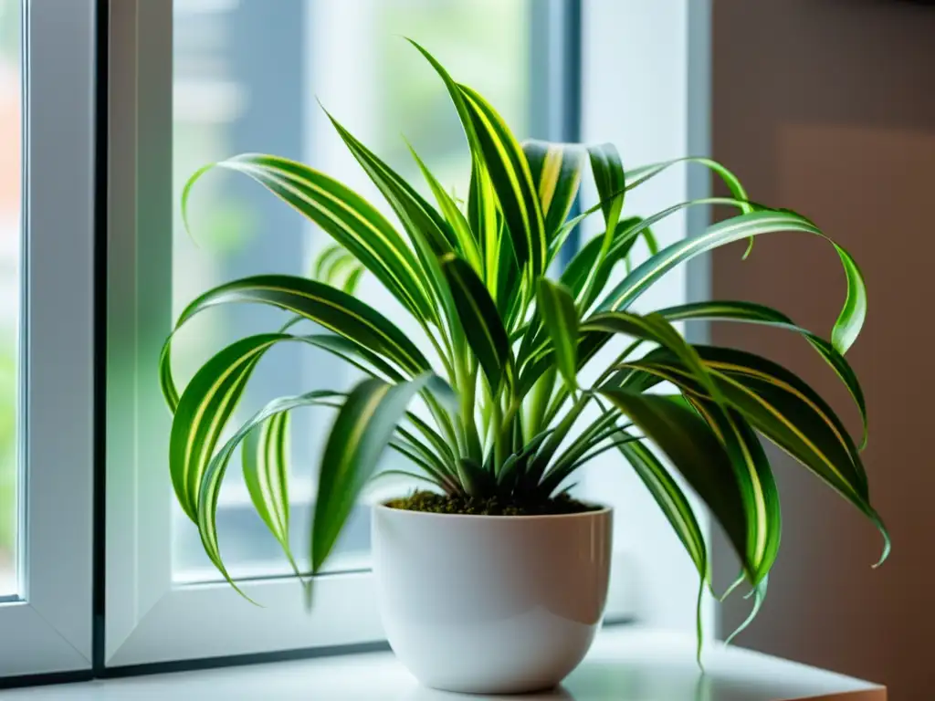
[[[20,599],[0,603],[0,677],[93,656],[94,0],[23,11]]]

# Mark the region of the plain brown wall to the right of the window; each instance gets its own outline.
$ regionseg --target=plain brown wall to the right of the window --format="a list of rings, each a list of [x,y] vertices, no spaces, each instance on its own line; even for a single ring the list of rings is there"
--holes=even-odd
[[[761,617],[739,642],[935,698],[935,7],[899,0],[714,0],[712,144],[751,196],[813,218],[851,250],[870,295],[849,357],[870,407],[871,497],[894,551],[797,465],[778,466],[783,551]],[[843,295],[812,236],[719,250],[715,298],[774,305],[827,335]],[[798,338],[713,330],[791,365],[855,413]],[[734,567],[721,558],[720,576]],[[744,612],[726,607],[729,628]]]

